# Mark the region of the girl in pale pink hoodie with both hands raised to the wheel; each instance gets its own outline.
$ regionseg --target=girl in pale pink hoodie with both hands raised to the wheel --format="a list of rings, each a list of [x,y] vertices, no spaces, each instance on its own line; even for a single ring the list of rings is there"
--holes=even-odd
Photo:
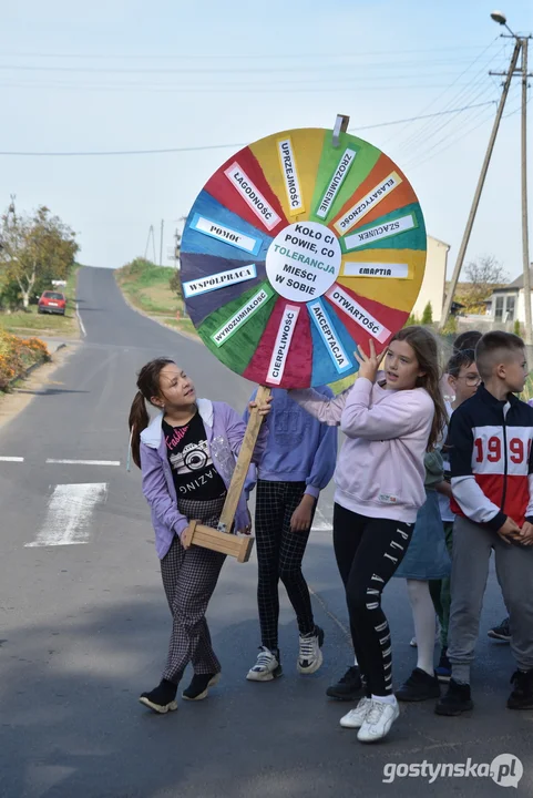
[[[445,423],[431,332],[417,326],[400,330],[379,378],[372,340],[369,347],[368,357],[356,352],[358,379],[335,399],[290,391],[311,416],[346,434],[335,474],[334,545],[366,696],[340,724],[358,728],[363,743],[385,737],[399,716],[381,594],[408,549],[426,501],[424,454]]]

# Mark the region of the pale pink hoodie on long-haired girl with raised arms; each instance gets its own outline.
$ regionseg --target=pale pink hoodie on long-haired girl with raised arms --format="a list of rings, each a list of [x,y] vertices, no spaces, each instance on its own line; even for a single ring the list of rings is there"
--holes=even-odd
[[[385,390],[359,377],[329,401],[312,389],[289,396],[347,437],[335,471],[335,501],[361,515],[414,523],[426,501],[423,459],[434,416],[428,391]]]

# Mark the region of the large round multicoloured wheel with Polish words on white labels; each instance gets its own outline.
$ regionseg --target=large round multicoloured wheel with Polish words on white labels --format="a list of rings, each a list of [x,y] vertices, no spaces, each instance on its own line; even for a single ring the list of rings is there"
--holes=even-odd
[[[406,323],[426,227],[401,170],[361,139],[291,130],[224,163],[188,215],[187,313],[205,345],[253,382],[304,388],[358,369]]]

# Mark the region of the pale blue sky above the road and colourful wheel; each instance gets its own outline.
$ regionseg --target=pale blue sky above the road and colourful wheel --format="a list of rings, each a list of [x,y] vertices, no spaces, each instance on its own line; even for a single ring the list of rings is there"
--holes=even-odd
[[[452,266],[501,92],[488,72],[512,49],[491,10],[481,0],[3,3],[0,152],[233,146],[1,154],[0,205],[10,194],[21,211],[47,204],[79,232],[80,259],[94,266],[143,255],[151,225],[158,258],[164,219],[168,264],[180,217],[237,145],[331,127],[346,113],[406,171]],[[531,0],[503,10],[514,30],[533,30]],[[519,109],[515,79],[468,252],[496,256],[510,277],[522,268]],[[426,114],[442,115],[361,130]]]

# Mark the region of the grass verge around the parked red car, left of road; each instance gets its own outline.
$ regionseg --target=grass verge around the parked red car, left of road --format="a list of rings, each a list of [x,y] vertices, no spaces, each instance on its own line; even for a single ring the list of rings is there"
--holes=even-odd
[[[66,280],[66,287],[62,289],[66,296],[66,310],[64,316],[39,314],[37,305],[30,305],[27,310],[0,313],[0,330],[19,336],[39,334],[44,338],[78,338],[80,330],[75,317],[75,297],[78,272],[81,266],[79,264],[74,266]]]

